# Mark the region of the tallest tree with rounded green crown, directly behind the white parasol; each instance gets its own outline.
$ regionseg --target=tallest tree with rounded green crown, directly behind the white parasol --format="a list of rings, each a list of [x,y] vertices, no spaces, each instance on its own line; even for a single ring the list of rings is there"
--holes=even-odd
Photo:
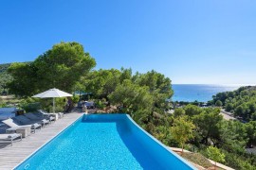
[[[71,92],[81,76],[95,65],[78,42],[61,42],[46,51],[33,64],[37,68],[38,89],[60,88]]]

